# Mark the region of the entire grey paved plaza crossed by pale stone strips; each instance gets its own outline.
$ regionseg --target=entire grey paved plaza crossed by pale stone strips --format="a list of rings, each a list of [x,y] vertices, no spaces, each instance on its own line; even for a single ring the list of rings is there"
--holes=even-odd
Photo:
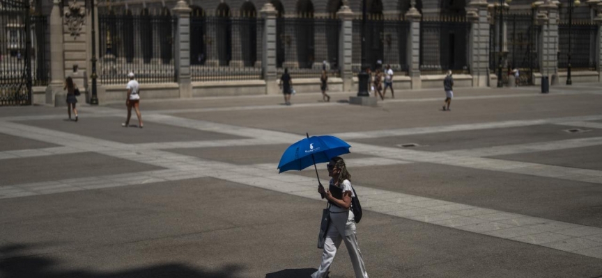
[[[325,202],[277,170],[306,132],[352,146],[370,277],[602,277],[599,83],[454,93],[0,108],[0,277],[309,277]]]

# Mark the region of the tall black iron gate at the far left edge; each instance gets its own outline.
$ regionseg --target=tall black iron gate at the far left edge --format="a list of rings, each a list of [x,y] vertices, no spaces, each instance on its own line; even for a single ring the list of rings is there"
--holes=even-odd
[[[31,105],[29,1],[0,0],[0,106]]]

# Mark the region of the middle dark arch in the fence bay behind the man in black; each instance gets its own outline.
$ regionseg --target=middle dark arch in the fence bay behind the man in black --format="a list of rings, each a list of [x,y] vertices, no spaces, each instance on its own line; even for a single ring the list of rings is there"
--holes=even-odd
[[[297,14],[300,17],[297,31],[297,57],[300,68],[314,65],[314,3],[311,0],[297,2]]]

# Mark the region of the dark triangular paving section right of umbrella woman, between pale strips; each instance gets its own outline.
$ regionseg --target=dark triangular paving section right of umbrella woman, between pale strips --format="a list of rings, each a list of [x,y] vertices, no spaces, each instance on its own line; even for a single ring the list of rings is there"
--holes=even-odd
[[[370,188],[602,227],[602,211],[597,209],[602,205],[602,187],[594,183],[431,163],[348,167],[353,183]],[[318,172],[327,177],[326,171]],[[293,174],[315,177],[314,172]],[[463,215],[473,216],[467,213]],[[514,218],[509,215],[498,220]]]

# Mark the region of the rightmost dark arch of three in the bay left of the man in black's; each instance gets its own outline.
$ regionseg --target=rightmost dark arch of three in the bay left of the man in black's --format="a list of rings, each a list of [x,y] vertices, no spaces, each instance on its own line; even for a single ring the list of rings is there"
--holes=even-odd
[[[240,7],[240,40],[242,42],[242,60],[245,67],[253,67],[257,60],[257,17],[255,5],[245,2]]]

